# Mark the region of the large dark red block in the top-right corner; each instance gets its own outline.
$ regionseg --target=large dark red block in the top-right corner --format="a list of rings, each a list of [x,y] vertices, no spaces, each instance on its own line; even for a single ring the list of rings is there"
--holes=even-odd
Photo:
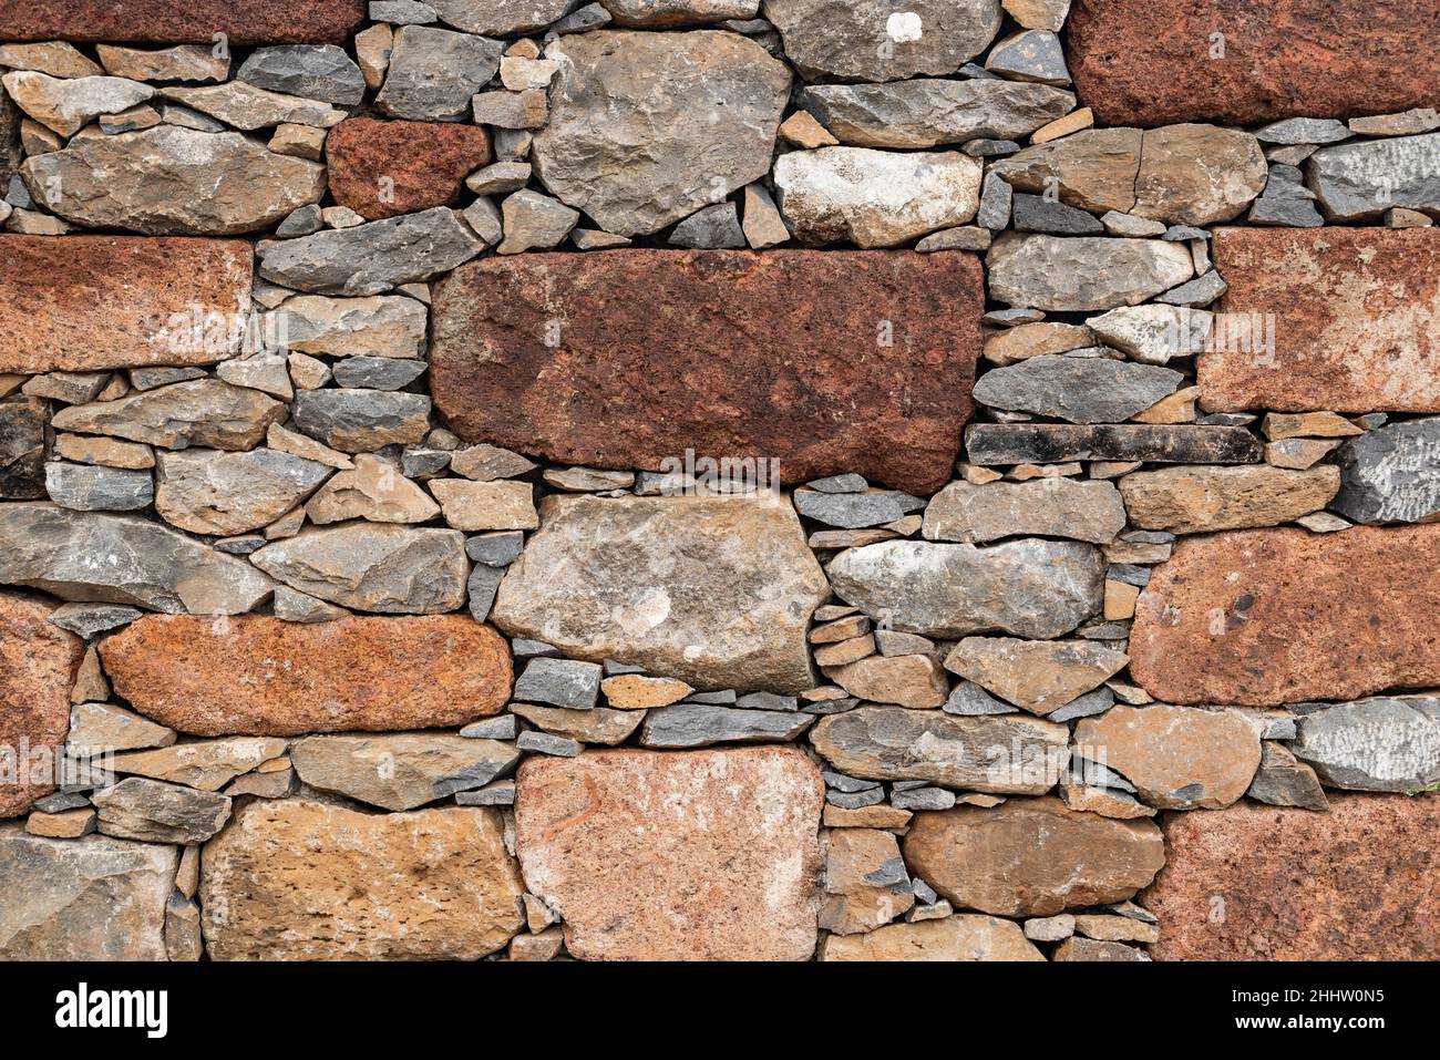
[[[1067,24],[1080,101],[1103,125],[1440,104],[1434,0],[1074,0]]]

